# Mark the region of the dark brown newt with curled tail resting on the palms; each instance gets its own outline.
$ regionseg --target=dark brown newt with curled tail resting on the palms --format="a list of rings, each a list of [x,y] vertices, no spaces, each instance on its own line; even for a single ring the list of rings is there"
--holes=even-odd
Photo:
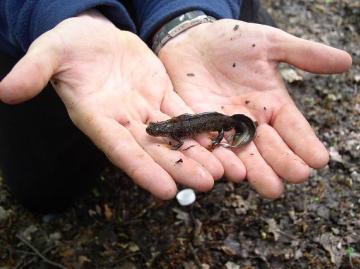
[[[146,132],[151,136],[168,137],[176,142],[172,149],[179,149],[183,138],[194,137],[203,132],[218,132],[212,140],[212,149],[218,145],[225,147],[240,147],[250,143],[256,133],[257,122],[244,114],[224,115],[219,112],[204,112],[199,114],[182,114],[161,122],[150,122]],[[223,144],[224,133],[234,129],[230,144]]]

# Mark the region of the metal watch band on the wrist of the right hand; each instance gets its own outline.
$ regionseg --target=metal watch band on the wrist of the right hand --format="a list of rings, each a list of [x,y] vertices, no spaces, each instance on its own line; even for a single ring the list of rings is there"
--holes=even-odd
[[[196,10],[187,12],[175,19],[172,19],[164,26],[160,28],[159,31],[154,35],[152,49],[158,54],[160,49],[173,37],[178,34],[194,27],[196,25],[213,22],[216,19],[207,16],[204,12]]]

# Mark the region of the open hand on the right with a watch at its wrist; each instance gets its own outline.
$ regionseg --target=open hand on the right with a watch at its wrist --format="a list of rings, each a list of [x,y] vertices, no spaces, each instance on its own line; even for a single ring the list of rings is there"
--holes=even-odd
[[[306,41],[269,26],[220,20],[193,27],[159,53],[175,90],[195,112],[244,113],[259,123],[254,143],[224,157],[214,151],[230,180],[243,171],[263,196],[283,192],[282,179],[299,183],[328,152],[296,108],[278,71],[286,62],[313,73],[341,73],[351,66],[344,51]],[[239,174],[239,172],[237,173]]]

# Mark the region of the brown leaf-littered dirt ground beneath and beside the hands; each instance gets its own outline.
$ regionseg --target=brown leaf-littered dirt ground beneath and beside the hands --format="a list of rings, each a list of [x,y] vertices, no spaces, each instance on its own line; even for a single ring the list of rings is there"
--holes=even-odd
[[[276,201],[221,181],[189,208],[109,168],[74,208],[46,216],[26,212],[0,180],[0,269],[360,268],[360,1],[264,2],[280,28],[353,56],[344,75],[282,67],[329,165]]]

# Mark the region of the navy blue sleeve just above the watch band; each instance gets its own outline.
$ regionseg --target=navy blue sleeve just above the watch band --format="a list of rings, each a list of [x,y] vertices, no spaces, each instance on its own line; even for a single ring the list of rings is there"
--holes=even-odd
[[[242,0],[134,0],[136,22],[143,40],[167,21],[191,10],[201,10],[217,19],[238,19]]]

